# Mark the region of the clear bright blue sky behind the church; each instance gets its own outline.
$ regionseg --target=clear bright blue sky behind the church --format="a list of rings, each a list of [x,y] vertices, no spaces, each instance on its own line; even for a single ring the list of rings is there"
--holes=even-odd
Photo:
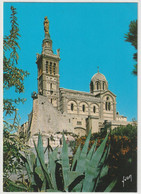
[[[99,71],[117,96],[117,111],[130,121],[137,118],[137,77],[132,75],[133,54],[125,33],[137,19],[137,3],[4,3],[4,35],[9,34],[10,7],[17,9],[21,38],[19,68],[25,79],[27,99],[19,105],[21,124],[32,110],[31,93],[37,91],[36,53],[41,53],[44,17],[50,22],[53,51],[60,48],[60,87],[89,92],[92,76]],[[13,90],[5,97],[15,97]]]

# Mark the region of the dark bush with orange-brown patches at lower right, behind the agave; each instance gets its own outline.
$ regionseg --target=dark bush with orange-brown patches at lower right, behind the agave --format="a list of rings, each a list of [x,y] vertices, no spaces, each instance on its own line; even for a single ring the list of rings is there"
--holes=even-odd
[[[97,146],[101,144],[104,133],[95,133],[91,135],[89,149],[93,146],[97,140]],[[85,137],[78,139],[78,145],[84,144]],[[98,190],[101,191],[102,187],[117,178],[114,192],[135,192],[137,190],[137,125],[134,122],[133,125],[119,126],[111,131],[109,135],[109,142],[111,149],[109,157],[107,159],[108,176],[103,178],[101,185],[98,186]],[[106,171],[106,167],[104,169]],[[102,173],[105,173],[105,172]],[[123,187],[123,176],[132,175],[132,183],[127,181]]]

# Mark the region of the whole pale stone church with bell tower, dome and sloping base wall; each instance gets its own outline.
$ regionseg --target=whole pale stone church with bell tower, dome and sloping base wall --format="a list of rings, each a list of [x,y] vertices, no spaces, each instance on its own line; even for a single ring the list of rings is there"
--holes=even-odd
[[[127,125],[127,118],[116,111],[116,95],[108,89],[108,81],[99,70],[88,83],[89,93],[60,88],[60,49],[54,54],[47,17],[44,31],[42,53],[36,60],[38,93],[32,95],[33,109],[21,130],[31,138],[39,131],[47,137],[63,130],[81,136],[90,129],[92,133],[100,131],[106,123],[112,129]]]

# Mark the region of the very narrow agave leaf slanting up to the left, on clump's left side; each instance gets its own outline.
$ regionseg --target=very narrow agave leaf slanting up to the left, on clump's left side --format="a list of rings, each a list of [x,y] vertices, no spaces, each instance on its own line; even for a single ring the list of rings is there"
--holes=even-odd
[[[33,141],[33,142],[34,142],[34,147],[35,147],[35,150],[36,150],[37,157],[39,159],[41,168],[43,170],[43,173],[44,173],[44,176],[46,178],[46,181],[48,182],[48,186],[49,186],[50,189],[52,189],[53,187],[52,187],[52,184],[51,184],[51,180],[50,180],[50,177],[49,177],[48,170],[46,168],[45,162],[44,162],[42,156],[40,156],[40,152],[39,152],[38,148],[36,147],[35,141]]]

